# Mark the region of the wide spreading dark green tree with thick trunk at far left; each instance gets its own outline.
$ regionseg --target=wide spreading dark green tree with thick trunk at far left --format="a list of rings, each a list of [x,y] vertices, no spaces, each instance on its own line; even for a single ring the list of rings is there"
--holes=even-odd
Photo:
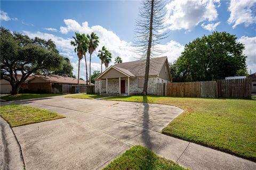
[[[53,41],[40,38],[31,39],[18,32],[0,28],[1,37],[1,79],[9,81],[12,95],[19,92],[23,82],[37,70],[56,70],[61,64]],[[22,76],[18,79],[18,73]]]

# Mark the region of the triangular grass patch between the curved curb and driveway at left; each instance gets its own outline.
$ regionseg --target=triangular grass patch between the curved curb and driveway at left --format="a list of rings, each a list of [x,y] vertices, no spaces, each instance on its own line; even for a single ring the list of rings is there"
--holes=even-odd
[[[65,116],[59,115],[55,112],[46,111],[30,106],[22,105],[5,105],[1,106],[0,115],[12,127],[22,126],[26,124],[50,121]]]

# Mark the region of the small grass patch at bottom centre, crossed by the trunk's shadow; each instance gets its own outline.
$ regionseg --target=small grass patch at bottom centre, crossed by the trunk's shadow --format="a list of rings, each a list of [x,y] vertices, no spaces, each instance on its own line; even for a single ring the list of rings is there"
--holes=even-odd
[[[113,160],[103,170],[185,170],[185,168],[178,164],[158,157],[154,152],[142,146],[133,146],[124,154]]]

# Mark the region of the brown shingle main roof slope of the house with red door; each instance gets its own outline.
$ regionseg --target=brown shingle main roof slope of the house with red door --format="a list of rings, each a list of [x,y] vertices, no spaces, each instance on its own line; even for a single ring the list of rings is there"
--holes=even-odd
[[[158,75],[161,71],[164,62],[167,57],[158,57],[150,59],[149,75]],[[132,77],[145,76],[146,60],[137,60],[133,62],[118,63],[114,67],[119,69]]]

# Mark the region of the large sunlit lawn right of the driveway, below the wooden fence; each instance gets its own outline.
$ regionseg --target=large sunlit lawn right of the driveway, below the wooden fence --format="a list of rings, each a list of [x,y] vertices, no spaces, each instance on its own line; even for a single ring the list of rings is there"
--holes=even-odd
[[[256,161],[256,100],[158,96],[112,97],[105,100],[166,104],[185,112],[162,133]]]

